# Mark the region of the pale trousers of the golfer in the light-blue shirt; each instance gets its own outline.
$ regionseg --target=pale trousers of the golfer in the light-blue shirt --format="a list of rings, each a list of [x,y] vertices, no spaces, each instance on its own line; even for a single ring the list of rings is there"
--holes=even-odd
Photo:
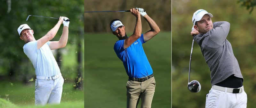
[[[60,104],[63,83],[62,76],[55,80],[36,79],[35,104]]]

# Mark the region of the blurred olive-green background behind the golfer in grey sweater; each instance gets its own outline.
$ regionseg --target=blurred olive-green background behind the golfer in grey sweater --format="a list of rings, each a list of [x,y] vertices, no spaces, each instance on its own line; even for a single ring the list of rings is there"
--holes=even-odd
[[[228,21],[228,41],[240,65],[247,93],[247,107],[254,107],[256,65],[255,0],[172,0],[172,108],[204,108],[206,94],[211,89],[210,69],[200,47],[195,42],[191,61],[190,81],[197,80],[199,93],[188,90],[188,68],[192,44],[190,35],[193,13],[204,9],[212,13],[212,22]],[[252,8],[251,8],[252,7]]]

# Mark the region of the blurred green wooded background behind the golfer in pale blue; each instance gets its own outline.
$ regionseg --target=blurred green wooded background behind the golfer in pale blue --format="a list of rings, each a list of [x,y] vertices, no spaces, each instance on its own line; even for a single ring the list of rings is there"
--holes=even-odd
[[[64,78],[61,103],[78,101],[84,106],[84,1],[76,0],[1,0],[0,1],[0,98],[22,107],[35,104],[35,69],[23,52],[25,42],[20,40],[17,28],[28,24],[34,30],[35,39],[43,37],[57,19],[29,17],[66,16],[69,24],[67,46],[52,50]],[[59,40],[63,25],[52,41]],[[1,107],[1,106],[0,106]],[[61,106],[62,107],[62,106]]]

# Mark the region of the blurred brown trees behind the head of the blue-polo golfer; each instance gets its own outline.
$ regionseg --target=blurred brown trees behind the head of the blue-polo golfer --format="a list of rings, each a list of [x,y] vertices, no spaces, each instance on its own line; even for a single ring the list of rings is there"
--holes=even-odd
[[[113,5],[116,3],[118,5]],[[90,5],[97,4],[97,5]],[[143,8],[152,16],[161,31],[171,30],[171,0],[85,0],[84,11],[119,11],[130,10],[131,8]],[[84,13],[84,32],[111,32],[109,23],[113,19],[120,19],[124,22],[134,22],[130,12],[99,12]],[[90,23],[89,23],[90,22]],[[148,24],[142,20],[142,29],[149,30]],[[127,32],[133,32],[134,25],[125,25]]]

